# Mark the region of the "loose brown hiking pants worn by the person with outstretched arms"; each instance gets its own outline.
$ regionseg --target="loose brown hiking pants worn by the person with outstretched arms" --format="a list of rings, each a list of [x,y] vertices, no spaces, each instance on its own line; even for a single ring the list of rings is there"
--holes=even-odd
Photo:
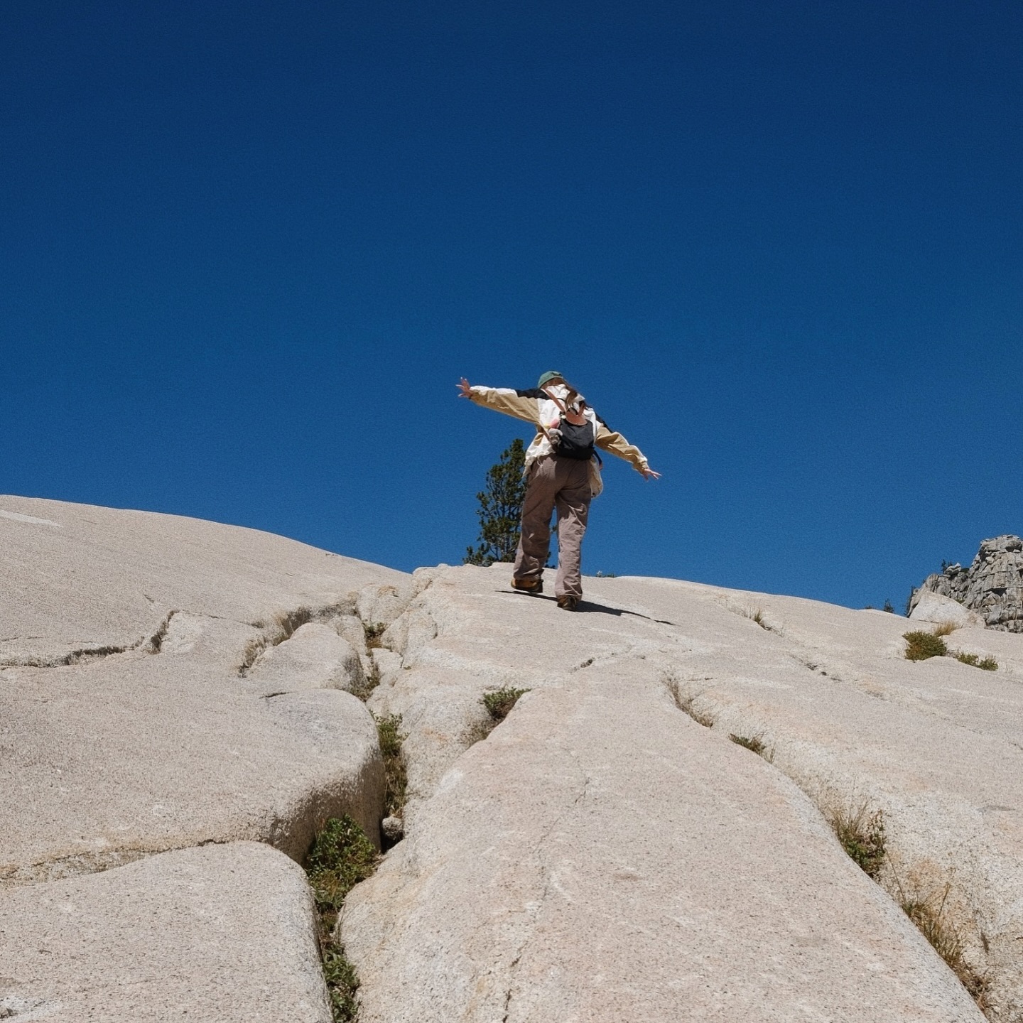
[[[548,455],[529,472],[522,503],[522,537],[515,578],[532,582],[543,575],[550,544],[550,514],[558,509],[558,596],[582,596],[582,535],[586,532],[591,491],[589,462]]]

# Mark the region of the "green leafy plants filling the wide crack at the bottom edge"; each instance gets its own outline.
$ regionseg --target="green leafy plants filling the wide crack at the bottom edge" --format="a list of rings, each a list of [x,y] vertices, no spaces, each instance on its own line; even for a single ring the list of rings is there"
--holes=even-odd
[[[333,1023],[355,1023],[359,1018],[359,978],[344,947],[333,938],[338,915],[348,893],[372,875],[379,859],[372,842],[347,813],[326,821],[306,855]]]

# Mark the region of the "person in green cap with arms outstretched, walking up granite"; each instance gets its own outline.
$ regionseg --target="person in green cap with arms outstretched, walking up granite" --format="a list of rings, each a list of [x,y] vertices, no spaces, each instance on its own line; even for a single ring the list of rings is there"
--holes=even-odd
[[[604,489],[595,448],[624,458],[647,480],[655,473],[639,450],[608,425],[557,370],[548,370],[535,388],[458,384],[459,397],[496,412],[532,422],[536,437],[526,450],[526,498],[522,505],[522,534],[511,576],[514,589],[543,592],[543,565],[550,543],[550,515],[558,511],[558,607],[575,611],[582,598],[582,537],[589,502]]]

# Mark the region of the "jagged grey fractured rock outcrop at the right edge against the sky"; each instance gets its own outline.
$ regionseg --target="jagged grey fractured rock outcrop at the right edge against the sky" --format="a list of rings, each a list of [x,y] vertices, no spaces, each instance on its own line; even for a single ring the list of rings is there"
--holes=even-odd
[[[928,590],[982,615],[989,629],[1023,632],[1023,540],[1011,535],[985,540],[968,569],[949,565],[929,575],[909,602],[910,617]]]

